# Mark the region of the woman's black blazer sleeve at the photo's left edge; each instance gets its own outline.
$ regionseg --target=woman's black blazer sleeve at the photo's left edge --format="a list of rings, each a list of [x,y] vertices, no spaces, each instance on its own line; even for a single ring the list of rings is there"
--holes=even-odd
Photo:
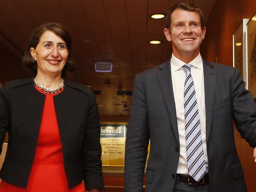
[[[0,89],[0,153],[2,153],[4,138],[10,122],[9,90],[9,82]]]

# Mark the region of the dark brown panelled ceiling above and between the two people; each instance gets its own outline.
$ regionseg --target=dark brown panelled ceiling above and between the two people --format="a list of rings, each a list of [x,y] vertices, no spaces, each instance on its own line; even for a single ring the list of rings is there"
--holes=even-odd
[[[165,18],[152,19],[150,15],[165,14],[177,1],[2,0],[0,41],[13,52],[14,57],[17,55],[20,58],[37,26],[45,22],[63,24],[72,36],[70,54],[76,61],[76,70],[67,78],[102,90],[102,95],[97,97],[107,108],[100,107],[100,114],[129,115],[119,105],[111,105],[117,102],[113,99],[117,98],[117,86],[122,83],[123,90],[132,90],[131,85],[138,72],[159,65],[171,56],[171,43],[165,40],[163,34]],[[206,15],[210,14],[214,2],[197,0]],[[163,43],[149,44],[153,39]],[[113,72],[96,73],[95,61],[112,61]],[[13,64],[9,63],[6,72],[12,69]],[[17,73],[24,74],[22,68],[17,69]],[[14,77],[17,79],[20,75]],[[115,83],[106,87],[106,79]],[[109,94],[112,94],[111,97]]]

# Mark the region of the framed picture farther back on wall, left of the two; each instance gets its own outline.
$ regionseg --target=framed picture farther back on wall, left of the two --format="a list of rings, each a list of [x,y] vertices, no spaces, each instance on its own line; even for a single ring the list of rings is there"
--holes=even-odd
[[[233,66],[236,67],[243,80],[246,81],[246,24],[249,19],[244,18],[233,34]]]

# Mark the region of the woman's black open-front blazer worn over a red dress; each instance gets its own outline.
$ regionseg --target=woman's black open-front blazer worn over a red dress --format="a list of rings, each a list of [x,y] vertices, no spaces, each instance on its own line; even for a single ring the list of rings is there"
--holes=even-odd
[[[9,133],[0,177],[7,183],[26,188],[44,102],[45,95],[35,89],[32,78],[7,82],[0,89],[1,150]],[[100,123],[93,92],[66,80],[63,92],[54,96],[54,105],[69,188],[84,180],[87,189],[103,189]]]

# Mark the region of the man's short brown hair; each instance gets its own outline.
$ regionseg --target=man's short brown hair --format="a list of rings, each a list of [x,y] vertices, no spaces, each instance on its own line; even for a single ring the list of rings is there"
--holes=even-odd
[[[174,4],[171,9],[166,14],[166,20],[165,20],[165,27],[169,29],[171,27],[171,16],[173,14],[173,11],[176,9],[183,9],[186,11],[197,11],[197,13],[200,16],[200,22],[201,22],[201,28],[204,27],[204,14],[202,13],[202,10],[199,9],[195,4],[192,2],[182,1]]]

